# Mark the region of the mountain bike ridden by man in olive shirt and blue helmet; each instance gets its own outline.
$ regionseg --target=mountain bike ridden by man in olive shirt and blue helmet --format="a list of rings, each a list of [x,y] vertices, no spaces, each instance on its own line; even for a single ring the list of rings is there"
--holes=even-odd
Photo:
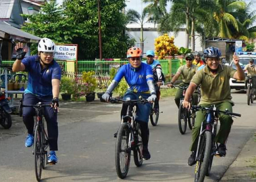
[[[217,134],[219,114],[231,117],[241,116],[228,110],[220,111],[215,106],[192,106],[194,111],[206,111],[206,122],[202,122],[196,150],[195,182],[203,182],[211,171],[213,157],[217,152],[218,143],[214,141]]]

